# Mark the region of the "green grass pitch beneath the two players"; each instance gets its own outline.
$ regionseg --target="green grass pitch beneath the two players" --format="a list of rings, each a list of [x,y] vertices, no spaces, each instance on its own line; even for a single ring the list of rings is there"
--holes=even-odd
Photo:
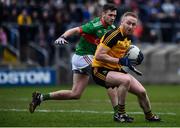
[[[112,120],[112,107],[106,90],[88,85],[80,100],[46,101],[30,114],[31,93],[43,93],[70,86],[0,88],[0,127],[180,127],[180,86],[146,85],[152,110],[162,122],[147,122],[134,95],[128,94],[126,111],[135,118],[133,123]]]

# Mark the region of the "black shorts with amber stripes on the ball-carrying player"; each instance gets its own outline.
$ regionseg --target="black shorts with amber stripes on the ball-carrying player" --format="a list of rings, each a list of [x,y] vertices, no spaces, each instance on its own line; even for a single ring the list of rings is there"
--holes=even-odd
[[[109,71],[117,71],[117,72],[123,72],[126,73],[123,70],[111,70],[104,67],[92,67],[92,77],[93,80],[96,82],[96,84],[99,84],[105,88],[110,88],[106,85],[106,76]]]

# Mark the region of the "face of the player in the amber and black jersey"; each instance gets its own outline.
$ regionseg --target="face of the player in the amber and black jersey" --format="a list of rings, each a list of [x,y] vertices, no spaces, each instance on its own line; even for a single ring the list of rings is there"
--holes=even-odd
[[[132,35],[134,32],[134,29],[137,26],[137,18],[132,16],[126,16],[122,19],[121,25],[123,26],[124,33],[126,35]]]

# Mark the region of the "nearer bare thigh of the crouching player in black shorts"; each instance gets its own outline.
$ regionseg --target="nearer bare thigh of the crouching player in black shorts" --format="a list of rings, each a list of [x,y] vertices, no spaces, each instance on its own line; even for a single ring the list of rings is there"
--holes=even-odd
[[[106,76],[107,85],[119,86],[121,84],[129,84],[130,81],[131,77],[122,72],[110,71]]]

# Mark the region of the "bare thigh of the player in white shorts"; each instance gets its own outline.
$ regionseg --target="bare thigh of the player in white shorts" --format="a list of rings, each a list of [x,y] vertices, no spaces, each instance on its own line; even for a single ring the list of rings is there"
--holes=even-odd
[[[89,82],[89,76],[85,74],[73,73],[73,87],[74,92],[83,92]]]

